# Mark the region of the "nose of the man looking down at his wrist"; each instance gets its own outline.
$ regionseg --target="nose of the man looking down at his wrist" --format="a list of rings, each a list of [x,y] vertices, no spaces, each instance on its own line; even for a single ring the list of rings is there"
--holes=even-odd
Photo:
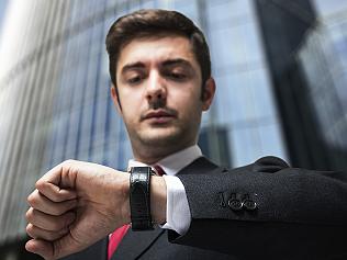
[[[165,79],[157,71],[150,71],[146,98],[149,103],[163,102],[167,98]]]

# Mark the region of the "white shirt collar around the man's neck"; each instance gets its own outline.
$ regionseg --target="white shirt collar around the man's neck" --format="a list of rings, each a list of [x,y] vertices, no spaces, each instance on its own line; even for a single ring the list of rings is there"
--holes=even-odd
[[[164,159],[159,160],[157,163],[163,168],[166,174],[176,176],[181,169],[190,165],[192,161],[202,156],[201,149],[198,145],[190,146],[183,150],[177,151]],[[134,159],[128,160],[127,167],[142,167],[147,166],[143,162],[136,161]],[[150,165],[154,166],[154,165]]]

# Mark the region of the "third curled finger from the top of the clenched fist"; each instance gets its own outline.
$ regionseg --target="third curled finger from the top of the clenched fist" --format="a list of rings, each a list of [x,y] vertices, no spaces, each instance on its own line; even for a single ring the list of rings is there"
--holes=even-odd
[[[53,216],[30,207],[26,212],[26,219],[36,227],[48,231],[58,231],[68,227],[76,218],[74,212],[67,212],[60,216]]]

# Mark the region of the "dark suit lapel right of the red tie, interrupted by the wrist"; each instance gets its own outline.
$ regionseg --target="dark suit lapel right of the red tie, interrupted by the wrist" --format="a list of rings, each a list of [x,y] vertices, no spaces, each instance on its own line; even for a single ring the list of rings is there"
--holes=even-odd
[[[205,157],[200,157],[180,170],[177,174],[206,174],[214,172],[216,169],[219,169],[216,165]],[[165,231],[165,229],[159,227],[156,227],[153,231],[132,231],[128,229],[111,260],[138,258],[142,253],[148,250]]]

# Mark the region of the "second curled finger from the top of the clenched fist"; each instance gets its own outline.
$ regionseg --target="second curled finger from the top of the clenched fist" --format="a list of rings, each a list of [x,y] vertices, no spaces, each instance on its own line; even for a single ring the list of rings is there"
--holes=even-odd
[[[53,202],[38,192],[38,190],[35,190],[27,196],[27,203],[37,211],[49,215],[59,216],[72,210],[77,205],[77,200]]]

